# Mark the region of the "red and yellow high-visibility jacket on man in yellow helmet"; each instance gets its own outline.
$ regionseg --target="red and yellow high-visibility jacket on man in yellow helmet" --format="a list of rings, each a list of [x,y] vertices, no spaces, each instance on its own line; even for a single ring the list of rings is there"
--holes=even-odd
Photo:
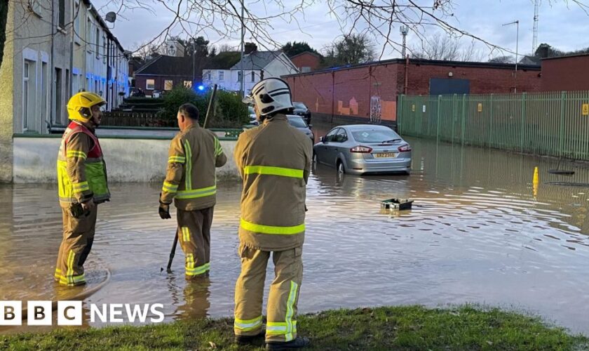
[[[107,168],[98,138],[89,128],[72,121],[63,133],[57,154],[57,183],[60,204],[110,199]]]

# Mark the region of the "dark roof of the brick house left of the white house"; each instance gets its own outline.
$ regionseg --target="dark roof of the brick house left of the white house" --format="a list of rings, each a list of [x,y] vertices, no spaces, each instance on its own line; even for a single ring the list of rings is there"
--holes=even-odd
[[[202,72],[201,63],[203,60],[201,58],[196,58],[194,65],[194,72],[197,77],[200,77]],[[192,77],[192,58],[191,56],[184,56],[183,58],[179,58],[176,56],[167,56],[167,55],[159,55],[156,58],[149,60],[145,65],[143,65],[140,69],[135,71],[135,75],[143,74],[143,75],[156,75],[156,76],[184,76],[184,77]]]

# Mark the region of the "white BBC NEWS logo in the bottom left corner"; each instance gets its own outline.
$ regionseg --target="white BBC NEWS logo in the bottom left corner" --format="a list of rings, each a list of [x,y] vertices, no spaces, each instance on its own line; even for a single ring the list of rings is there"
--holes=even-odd
[[[90,323],[163,322],[163,305],[110,303],[89,305]],[[29,326],[50,326],[53,323],[51,301],[27,301],[26,316],[23,316],[22,301],[0,301],[0,326],[20,326],[27,317]],[[81,326],[82,301],[57,301],[57,325]]]

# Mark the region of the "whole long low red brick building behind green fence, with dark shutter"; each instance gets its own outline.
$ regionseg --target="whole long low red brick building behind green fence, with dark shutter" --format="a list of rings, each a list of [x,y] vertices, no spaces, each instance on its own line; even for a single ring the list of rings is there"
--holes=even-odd
[[[515,65],[402,59],[323,69],[284,76],[293,100],[304,102],[313,117],[368,121],[378,114],[396,121],[397,96],[487,94],[514,91]],[[517,93],[539,91],[540,67],[518,65]]]

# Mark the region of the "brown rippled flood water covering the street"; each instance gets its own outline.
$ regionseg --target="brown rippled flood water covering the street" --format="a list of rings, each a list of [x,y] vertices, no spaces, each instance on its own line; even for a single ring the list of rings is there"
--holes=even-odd
[[[589,188],[547,184],[589,183],[589,168],[407,141],[411,176],[338,178],[323,166],[311,176],[299,312],[482,303],[589,334]],[[557,166],[576,173],[548,173]],[[231,316],[241,185],[219,184],[210,284],[184,281],[180,248],[174,274],[165,273],[176,225],[158,216],[160,186],[111,185],[86,263],[89,287],[111,275],[86,302],[163,303],[167,320]],[[55,185],[0,187],[0,300],[63,299],[89,289],[63,289],[51,279],[62,225],[56,193]],[[381,213],[379,201],[391,197],[414,206]]]

